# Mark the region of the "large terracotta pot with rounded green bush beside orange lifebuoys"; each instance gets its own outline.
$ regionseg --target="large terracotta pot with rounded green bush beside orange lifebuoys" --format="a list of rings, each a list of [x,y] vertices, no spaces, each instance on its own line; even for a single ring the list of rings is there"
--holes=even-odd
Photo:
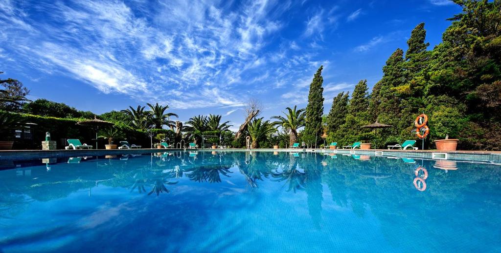
[[[437,150],[455,151],[461,126],[464,123],[461,113],[453,107],[440,106],[430,117],[430,131],[438,138],[435,140]],[[453,137],[450,138],[449,137]]]

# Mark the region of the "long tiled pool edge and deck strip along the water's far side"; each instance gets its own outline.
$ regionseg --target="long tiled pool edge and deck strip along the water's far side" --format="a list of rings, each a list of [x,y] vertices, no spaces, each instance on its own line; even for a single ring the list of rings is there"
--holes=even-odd
[[[265,151],[265,152],[317,152],[345,155],[369,155],[395,158],[422,158],[437,160],[456,160],[501,164],[500,151],[438,151],[438,150],[388,150],[388,149],[81,149],[81,150],[4,150],[0,151],[0,160],[35,160],[42,158],[62,158],[95,155],[127,155],[151,152],[178,151]]]

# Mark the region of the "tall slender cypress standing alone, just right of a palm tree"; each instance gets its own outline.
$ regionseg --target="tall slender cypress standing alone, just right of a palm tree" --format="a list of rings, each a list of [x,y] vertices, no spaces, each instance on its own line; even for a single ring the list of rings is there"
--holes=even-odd
[[[324,78],[322,77],[323,68],[323,65],[320,66],[310,84],[308,105],[306,106],[305,130],[303,131],[304,140],[309,143],[322,140],[321,136],[324,130],[322,127],[322,115],[324,114],[324,88],[322,87],[324,82]]]

